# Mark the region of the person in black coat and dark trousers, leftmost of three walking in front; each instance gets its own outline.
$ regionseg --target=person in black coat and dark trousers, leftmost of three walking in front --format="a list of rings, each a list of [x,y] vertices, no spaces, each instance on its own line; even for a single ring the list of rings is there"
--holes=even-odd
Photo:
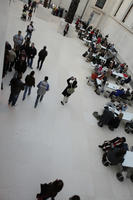
[[[15,106],[21,90],[24,90],[24,83],[21,81],[22,74],[18,74],[17,78],[10,81],[11,93],[8,100],[8,105]]]

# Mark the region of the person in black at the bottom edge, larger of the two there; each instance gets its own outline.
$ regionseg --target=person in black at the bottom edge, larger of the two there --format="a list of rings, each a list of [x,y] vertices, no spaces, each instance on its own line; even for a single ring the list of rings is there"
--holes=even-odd
[[[51,182],[49,184],[41,184],[41,193],[36,195],[36,198],[38,200],[46,200],[48,198],[51,198],[51,200],[54,200],[58,192],[62,190],[64,186],[64,183],[62,180],[55,180],[54,182]]]

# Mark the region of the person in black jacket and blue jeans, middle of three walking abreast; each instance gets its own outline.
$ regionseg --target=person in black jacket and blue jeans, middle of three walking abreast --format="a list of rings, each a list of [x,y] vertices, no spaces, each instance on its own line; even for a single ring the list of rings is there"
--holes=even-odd
[[[31,94],[31,89],[32,89],[32,86],[35,87],[35,78],[34,78],[34,74],[35,72],[32,71],[30,74],[28,74],[25,78],[25,88],[24,88],[24,94],[23,94],[23,101],[25,100],[26,98],[26,94],[28,92],[28,95]]]

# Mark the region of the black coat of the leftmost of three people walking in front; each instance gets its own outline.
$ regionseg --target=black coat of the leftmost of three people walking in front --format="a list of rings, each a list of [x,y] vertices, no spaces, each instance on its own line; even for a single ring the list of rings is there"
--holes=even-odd
[[[11,93],[14,95],[17,95],[21,92],[21,90],[24,90],[24,83],[17,78],[13,78],[10,81],[10,86],[11,86]]]

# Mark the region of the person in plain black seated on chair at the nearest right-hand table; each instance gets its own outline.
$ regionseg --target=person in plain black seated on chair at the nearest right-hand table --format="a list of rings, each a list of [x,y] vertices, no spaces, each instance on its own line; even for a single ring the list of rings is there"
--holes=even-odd
[[[125,153],[126,150],[124,149],[110,149],[107,153],[103,154],[102,163],[106,167],[109,165],[118,165],[119,163],[123,163]]]

